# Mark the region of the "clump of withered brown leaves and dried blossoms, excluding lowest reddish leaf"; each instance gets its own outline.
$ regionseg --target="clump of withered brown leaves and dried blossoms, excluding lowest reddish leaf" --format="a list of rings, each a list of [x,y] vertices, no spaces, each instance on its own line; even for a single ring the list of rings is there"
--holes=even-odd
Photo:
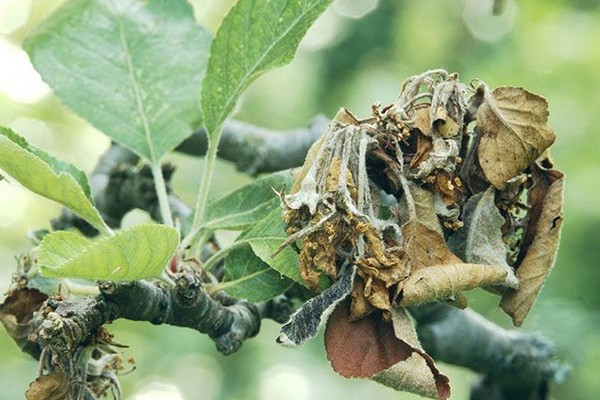
[[[390,321],[398,307],[431,301],[464,307],[462,292],[475,287],[499,293],[516,325],[533,305],[562,221],[548,105],[474,82],[427,71],[369,118],[342,109],[281,194],[282,246],[298,247],[310,288],[356,266],[350,321]]]

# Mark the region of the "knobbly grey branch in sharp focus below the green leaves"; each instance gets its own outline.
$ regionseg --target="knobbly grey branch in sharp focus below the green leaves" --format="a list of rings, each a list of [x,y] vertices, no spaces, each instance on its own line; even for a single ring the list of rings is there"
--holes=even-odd
[[[101,295],[81,301],[50,301],[40,329],[40,345],[70,352],[91,332],[118,318],[195,329],[209,335],[223,354],[237,351],[260,328],[258,308],[246,301],[223,305],[203,289],[199,276],[184,270],[175,285],[148,281],[102,282]]]

